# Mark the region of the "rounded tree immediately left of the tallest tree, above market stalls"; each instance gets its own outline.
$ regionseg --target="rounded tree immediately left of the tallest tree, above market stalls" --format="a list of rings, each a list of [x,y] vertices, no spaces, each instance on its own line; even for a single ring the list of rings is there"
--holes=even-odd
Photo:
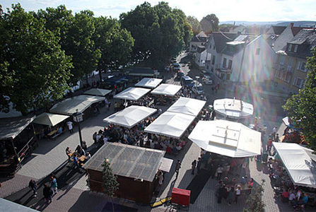
[[[134,38],[121,24],[112,18],[100,16],[95,18],[95,47],[100,50],[101,57],[97,70],[119,69],[131,62]],[[101,74],[99,74],[101,77]]]

